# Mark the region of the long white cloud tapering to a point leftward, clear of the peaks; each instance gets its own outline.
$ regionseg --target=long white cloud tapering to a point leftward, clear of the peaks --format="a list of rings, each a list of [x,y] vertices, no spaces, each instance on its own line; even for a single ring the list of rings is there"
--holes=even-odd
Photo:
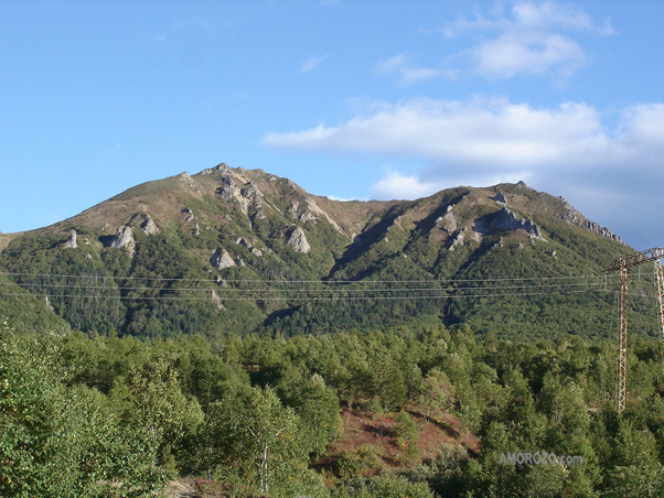
[[[500,98],[413,100],[384,105],[336,127],[270,133],[264,144],[285,149],[361,152],[463,166],[540,167],[574,155],[603,154],[609,139],[599,113],[585,104],[536,109]]]

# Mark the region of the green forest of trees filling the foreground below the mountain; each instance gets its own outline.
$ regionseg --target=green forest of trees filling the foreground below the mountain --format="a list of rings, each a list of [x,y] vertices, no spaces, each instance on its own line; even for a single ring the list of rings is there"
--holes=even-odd
[[[4,320],[0,496],[658,497],[660,344],[631,339],[621,414],[615,358],[426,322],[210,342]]]

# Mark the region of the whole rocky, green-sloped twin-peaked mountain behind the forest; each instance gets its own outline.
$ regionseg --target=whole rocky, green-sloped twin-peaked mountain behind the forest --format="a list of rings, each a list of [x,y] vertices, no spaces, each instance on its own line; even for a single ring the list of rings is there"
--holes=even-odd
[[[225,163],[0,242],[4,279],[43,306],[47,296],[74,328],[212,338],[441,320],[505,336],[608,335],[603,269],[632,251],[523,182],[340,202]]]

